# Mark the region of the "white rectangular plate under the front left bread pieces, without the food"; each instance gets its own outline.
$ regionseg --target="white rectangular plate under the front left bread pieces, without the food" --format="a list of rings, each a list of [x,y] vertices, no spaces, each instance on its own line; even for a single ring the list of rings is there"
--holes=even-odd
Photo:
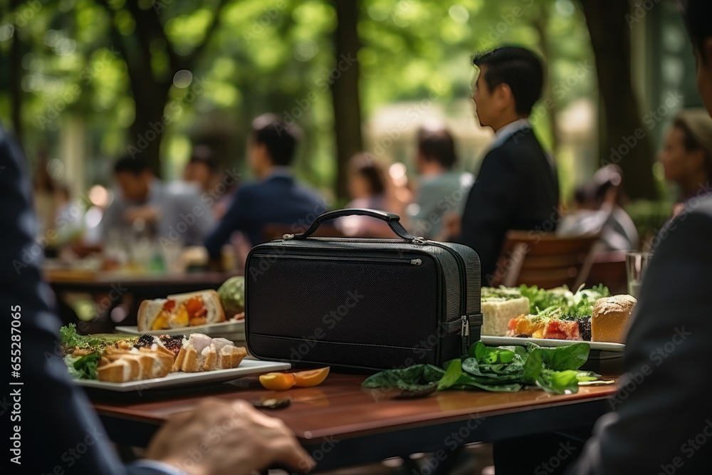
[[[130,392],[150,390],[153,388],[166,387],[189,387],[200,383],[212,383],[235,380],[239,377],[254,375],[263,372],[288,370],[289,363],[242,360],[238,367],[231,370],[215,370],[201,372],[172,372],[166,377],[157,377],[153,380],[130,381],[130,382],[105,382],[97,380],[74,380],[83,387],[93,387],[100,390],[117,392]]]

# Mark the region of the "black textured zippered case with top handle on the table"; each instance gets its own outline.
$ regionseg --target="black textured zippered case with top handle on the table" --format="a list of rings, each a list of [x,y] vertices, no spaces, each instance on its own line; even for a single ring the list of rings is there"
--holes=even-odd
[[[386,221],[399,238],[312,236],[324,221],[354,214]],[[351,370],[442,365],[480,338],[480,281],[475,251],[412,236],[397,214],[326,212],[306,232],[248,254],[248,351]]]

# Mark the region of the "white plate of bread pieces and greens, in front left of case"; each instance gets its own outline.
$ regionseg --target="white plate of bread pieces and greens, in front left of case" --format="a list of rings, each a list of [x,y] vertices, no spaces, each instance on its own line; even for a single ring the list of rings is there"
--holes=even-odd
[[[189,387],[289,369],[288,363],[246,359],[245,348],[226,338],[182,335],[78,335],[61,328],[64,362],[78,385],[128,392]]]

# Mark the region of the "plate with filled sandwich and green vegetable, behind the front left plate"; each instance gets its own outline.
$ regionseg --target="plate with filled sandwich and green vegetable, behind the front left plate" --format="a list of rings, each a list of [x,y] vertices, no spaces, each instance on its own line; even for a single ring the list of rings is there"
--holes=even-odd
[[[184,336],[204,333],[245,339],[245,278],[231,277],[218,289],[179,293],[141,302],[137,325],[117,326],[130,335]]]

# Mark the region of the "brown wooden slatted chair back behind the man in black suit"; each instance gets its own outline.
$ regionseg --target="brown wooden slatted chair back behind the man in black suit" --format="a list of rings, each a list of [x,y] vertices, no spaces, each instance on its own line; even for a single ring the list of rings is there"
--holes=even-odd
[[[586,283],[595,257],[598,234],[559,238],[540,231],[508,231],[492,285],[554,288],[572,291]],[[593,285],[593,284],[592,284]]]

